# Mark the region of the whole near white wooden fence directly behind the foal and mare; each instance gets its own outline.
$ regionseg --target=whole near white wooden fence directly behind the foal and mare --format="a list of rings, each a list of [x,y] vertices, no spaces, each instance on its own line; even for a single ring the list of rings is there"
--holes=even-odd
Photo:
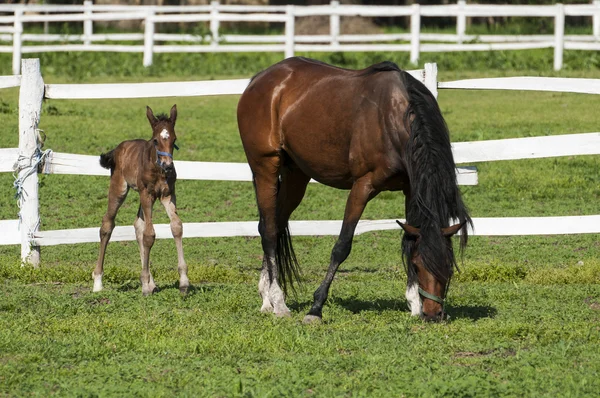
[[[597,80],[561,78],[500,78],[437,83],[437,67],[426,64],[424,70],[410,72],[437,96],[438,88],[516,89],[515,82],[525,81],[522,90],[545,90],[600,94]],[[515,80],[516,79],[516,80]],[[519,80],[522,79],[522,80]],[[524,79],[524,80],[523,80]],[[46,99],[140,98],[241,94],[248,80],[223,80],[185,83],[144,84],[44,84],[39,60],[23,60],[22,76],[0,76],[0,88],[20,86],[19,148],[0,149],[0,172],[16,168],[23,176],[25,194],[20,199],[19,220],[0,221],[0,245],[21,244],[24,262],[39,262],[39,246],[98,242],[98,227],[40,231],[37,197],[38,162],[41,172],[50,174],[105,175],[108,170],[98,164],[98,156],[47,151],[41,153],[37,134],[41,101]],[[157,85],[161,90],[157,90]],[[457,163],[542,158],[554,156],[599,155],[600,133],[529,137],[505,140],[462,142],[453,144]],[[251,181],[244,163],[175,161],[179,179]],[[459,168],[458,181],[477,184],[472,167]],[[100,220],[98,221],[100,223]],[[475,235],[548,235],[600,233],[600,215],[567,217],[475,218]],[[337,235],[341,221],[292,221],[294,235]],[[157,238],[170,238],[167,224],[156,225]],[[375,230],[397,229],[395,220],[360,221],[356,234]],[[185,223],[184,237],[257,236],[257,222]],[[116,227],[112,240],[135,240],[133,227]]]

